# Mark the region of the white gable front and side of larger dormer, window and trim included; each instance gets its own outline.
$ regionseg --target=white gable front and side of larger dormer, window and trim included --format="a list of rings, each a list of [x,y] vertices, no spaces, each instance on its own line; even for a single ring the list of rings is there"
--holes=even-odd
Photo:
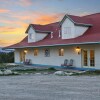
[[[62,39],[71,39],[83,35],[90,25],[74,22],[70,17],[65,16],[60,23]]]

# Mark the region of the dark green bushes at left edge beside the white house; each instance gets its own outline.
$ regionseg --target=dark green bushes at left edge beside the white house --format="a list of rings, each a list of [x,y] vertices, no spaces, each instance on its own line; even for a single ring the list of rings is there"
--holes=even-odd
[[[0,63],[13,63],[14,52],[0,53]]]

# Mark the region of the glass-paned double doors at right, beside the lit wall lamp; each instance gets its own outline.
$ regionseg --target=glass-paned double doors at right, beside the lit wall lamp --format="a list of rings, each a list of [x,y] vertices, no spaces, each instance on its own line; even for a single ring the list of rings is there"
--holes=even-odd
[[[83,67],[95,66],[95,51],[94,50],[82,50],[82,62]]]

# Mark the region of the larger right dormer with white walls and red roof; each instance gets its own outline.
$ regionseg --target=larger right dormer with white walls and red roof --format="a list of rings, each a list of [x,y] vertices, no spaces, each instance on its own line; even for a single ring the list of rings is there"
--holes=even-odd
[[[83,35],[92,24],[83,17],[65,15],[60,22],[62,39],[71,39]]]

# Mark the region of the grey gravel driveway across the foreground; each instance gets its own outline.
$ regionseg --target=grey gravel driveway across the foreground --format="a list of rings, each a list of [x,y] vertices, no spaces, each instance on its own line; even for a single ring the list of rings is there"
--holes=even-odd
[[[0,100],[100,100],[100,76],[1,76]]]

